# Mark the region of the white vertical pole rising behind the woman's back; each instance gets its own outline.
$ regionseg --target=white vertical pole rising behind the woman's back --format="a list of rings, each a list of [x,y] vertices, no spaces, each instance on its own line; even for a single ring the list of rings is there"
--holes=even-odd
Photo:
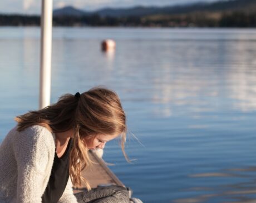
[[[42,0],[40,101],[39,108],[50,105],[52,61],[52,0]]]

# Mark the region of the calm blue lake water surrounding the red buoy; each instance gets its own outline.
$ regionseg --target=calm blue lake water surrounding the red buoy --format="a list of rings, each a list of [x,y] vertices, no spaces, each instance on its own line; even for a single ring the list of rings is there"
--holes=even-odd
[[[38,108],[39,56],[39,28],[0,28],[0,141]],[[97,85],[125,108],[135,160],[104,159],[135,197],[256,202],[256,29],[54,28],[51,101]]]

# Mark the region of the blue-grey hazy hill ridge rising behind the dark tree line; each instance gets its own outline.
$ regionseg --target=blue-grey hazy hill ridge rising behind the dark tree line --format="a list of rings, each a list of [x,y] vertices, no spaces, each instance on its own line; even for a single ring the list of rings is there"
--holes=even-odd
[[[95,12],[87,12],[71,6],[55,9],[53,16],[84,16],[99,14],[101,17],[144,17],[156,14],[185,14],[193,12],[223,12],[223,11],[256,11],[256,0],[222,0],[213,3],[193,3],[180,6],[143,7],[132,8],[104,8]]]

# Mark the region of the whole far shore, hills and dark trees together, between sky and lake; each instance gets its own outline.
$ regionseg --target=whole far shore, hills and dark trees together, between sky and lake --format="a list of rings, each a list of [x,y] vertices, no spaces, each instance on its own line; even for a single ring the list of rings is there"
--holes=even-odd
[[[40,16],[0,14],[0,26],[40,26]],[[53,26],[255,28],[256,0],[104,8],[95,12],[69,6],[53,11]]]

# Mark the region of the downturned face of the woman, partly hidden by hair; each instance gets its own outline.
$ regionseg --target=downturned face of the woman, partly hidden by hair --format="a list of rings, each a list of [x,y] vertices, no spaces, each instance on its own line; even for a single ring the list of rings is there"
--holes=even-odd
[[[94,150],[95,148],[104,148],[106,143],[109,142],[110,140],[113,140],[116,138],[118,135],[113,136],[113,135],[96,135],[93,137],[91,140],[85,140],[87,147],[90,150]]]

